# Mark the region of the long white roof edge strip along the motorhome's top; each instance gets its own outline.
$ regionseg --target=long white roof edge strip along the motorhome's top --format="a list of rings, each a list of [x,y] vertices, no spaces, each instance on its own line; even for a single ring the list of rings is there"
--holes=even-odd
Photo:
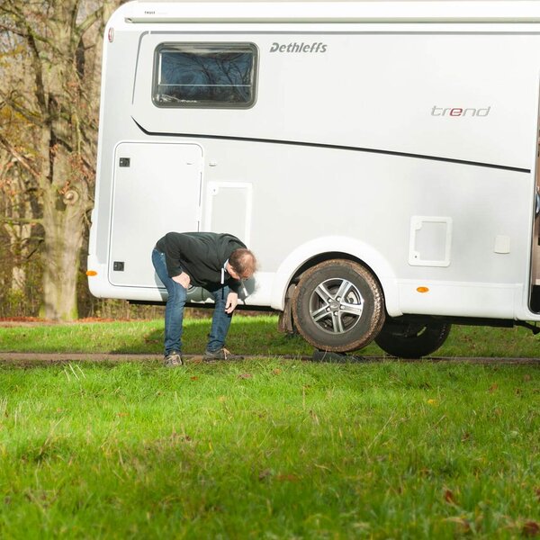
[[[135,1],[128,23],[539,23],[539,0]]]

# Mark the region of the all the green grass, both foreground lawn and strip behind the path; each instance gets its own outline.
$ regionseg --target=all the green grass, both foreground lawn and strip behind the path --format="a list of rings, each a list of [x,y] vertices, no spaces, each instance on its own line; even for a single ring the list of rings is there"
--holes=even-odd
[[[162,326],[3,328],[0,350],[158,354]],[[187,321],[185,352],[207,332]],[[536,344],[458,329],[437,354]],[[280,359],[311,349],[272,317],[238,318],[229,347],[274,357],[0,363],[0,537],[540,535],[539,365]]]

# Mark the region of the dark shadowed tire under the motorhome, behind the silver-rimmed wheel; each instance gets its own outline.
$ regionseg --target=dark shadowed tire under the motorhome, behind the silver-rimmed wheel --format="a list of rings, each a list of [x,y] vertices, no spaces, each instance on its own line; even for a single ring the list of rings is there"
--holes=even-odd
[[[451,324],[440,320],[387,319],[375,343],[389,355],[420,358],[437,351],[445,343],[451,328]]]

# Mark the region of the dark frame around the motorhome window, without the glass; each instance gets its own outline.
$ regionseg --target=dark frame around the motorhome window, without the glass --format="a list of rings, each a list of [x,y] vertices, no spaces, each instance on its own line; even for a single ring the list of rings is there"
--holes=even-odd
[[[163,103],[157,101],[157,87],[159,85],[160,54],[163,49],[178,49],[180,52],[187,52],[186,49],[215,49],[216,52],[235,52],[240,49],[250,49],[253,53],[252,71],[251,71],[251,99],[248,102],[211,102],[193,101],[193,102],[171,102]],[[162,109],[250,109],[257,102],[257,79],[258,79],[258,58],[259,50],[255,43],[251,41],[165,41],[157,45],[154,51],[154,71],[152,77],[152,103]]]

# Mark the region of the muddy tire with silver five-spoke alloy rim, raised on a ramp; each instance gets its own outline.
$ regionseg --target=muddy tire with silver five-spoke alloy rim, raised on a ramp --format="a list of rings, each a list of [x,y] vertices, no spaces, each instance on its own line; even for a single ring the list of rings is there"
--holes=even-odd
[[[293,320],[313,347],[356,351],[383,328],[383,291],[364,266],[344,259],[325,261],[302,275],[293,294]]]

